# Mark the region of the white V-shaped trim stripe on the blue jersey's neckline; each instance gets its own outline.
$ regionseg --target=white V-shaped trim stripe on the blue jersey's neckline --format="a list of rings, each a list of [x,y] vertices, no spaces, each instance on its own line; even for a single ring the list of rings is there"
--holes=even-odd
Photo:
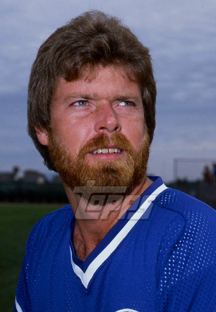
[[[72,257],[72,251],[70,247],[70,258],[71,264],[74,270],[74,273],[80,278],[82,284],[85,288],[88,287],[90,280],[92,279],[94,273],[97,269],[103,264],[104,261],[111,255],[111,253],[118,247],[121,241],[127,236],[127,234],[132,230],[137,221],[142,217],[142,215],[146,212],[147,208],[151,205],[151,203],[156,199],[156,197],[166,190],[167,187],[163,183],[159,186],[148,198],[143,202],[143,204],[139,207],[139,209],[133,214],[133,216],[128,220],[126,225],[118,232],[118,234],[113,238],[113,240],[99,253],[99,255],[89,264],[85,273],[77,266]]]

